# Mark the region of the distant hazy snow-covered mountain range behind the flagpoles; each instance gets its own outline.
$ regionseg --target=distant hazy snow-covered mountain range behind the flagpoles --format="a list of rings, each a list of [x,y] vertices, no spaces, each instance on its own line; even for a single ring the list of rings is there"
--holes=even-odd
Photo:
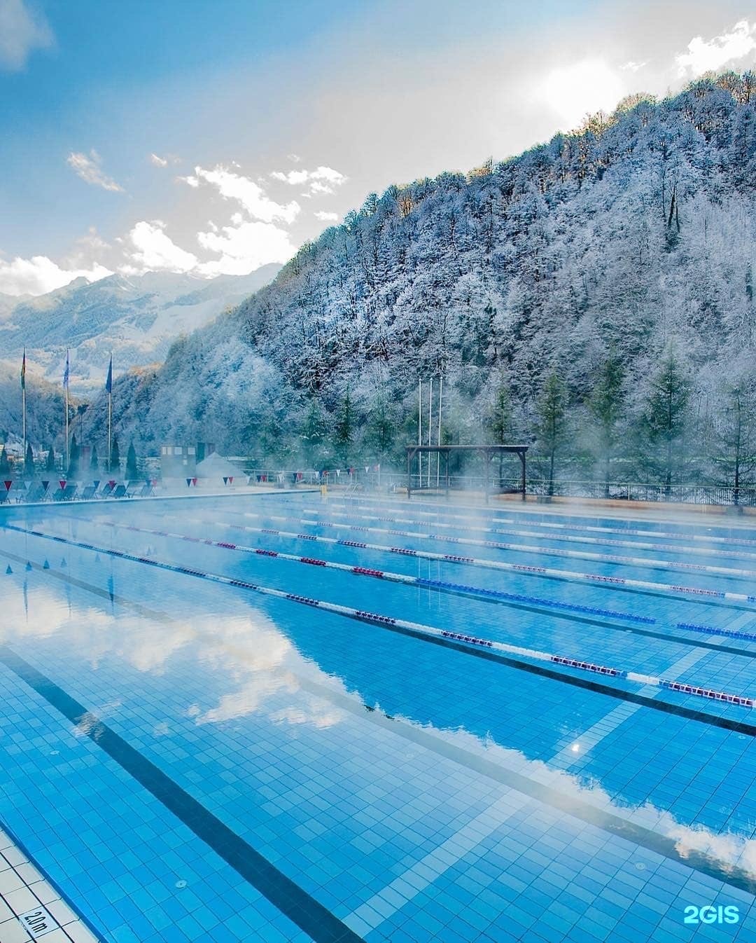
[[[173,340],[236,306],[278,272],[265,265],[247,275],[205,279],[188,274],[77,278],[36,298],[0,295],[0,351],[17,367],[26,348],[30,378],[60,383],[71,350],[71,391],[86,395],[115,372],[161,361]]]

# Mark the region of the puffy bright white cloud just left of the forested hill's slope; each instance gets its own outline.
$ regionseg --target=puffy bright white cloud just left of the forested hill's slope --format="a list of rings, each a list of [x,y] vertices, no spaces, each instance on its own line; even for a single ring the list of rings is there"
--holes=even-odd
[[[198,266],[204,275],[245,275],[268,262],[286,262],[296,252],[286,230],[272,223],[244,222],[238,214],[220,231],[211,226],[209,232],[197,233],[197,241],[221,256]]]

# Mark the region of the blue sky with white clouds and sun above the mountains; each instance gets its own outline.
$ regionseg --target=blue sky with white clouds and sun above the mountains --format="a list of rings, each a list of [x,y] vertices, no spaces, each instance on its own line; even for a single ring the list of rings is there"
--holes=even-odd
[[[371,190],[754,64],[741,0],[0,0],[0,293],[284,261]]]

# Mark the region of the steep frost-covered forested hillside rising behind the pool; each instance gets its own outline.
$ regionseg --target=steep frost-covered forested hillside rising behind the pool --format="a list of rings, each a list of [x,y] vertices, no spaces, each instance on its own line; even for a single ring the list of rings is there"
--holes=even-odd
[[[534,442],[562,476],[728,480],[735,449],[741,475],[756,453],[754,268],[756,76],[635,96],[519,157],[370,194],[125,377],[119,434],[390,464],[417,437],[419,378],[443,377],[447,441]]]

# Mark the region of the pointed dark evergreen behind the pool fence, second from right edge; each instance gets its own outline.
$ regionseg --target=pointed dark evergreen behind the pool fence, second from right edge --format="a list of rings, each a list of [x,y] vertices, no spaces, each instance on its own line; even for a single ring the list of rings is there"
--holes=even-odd
[[[691,384],[674,353],[670,352],[651,381],[644,417],[652,467],[665,486],[666,497],[685,451]]]

